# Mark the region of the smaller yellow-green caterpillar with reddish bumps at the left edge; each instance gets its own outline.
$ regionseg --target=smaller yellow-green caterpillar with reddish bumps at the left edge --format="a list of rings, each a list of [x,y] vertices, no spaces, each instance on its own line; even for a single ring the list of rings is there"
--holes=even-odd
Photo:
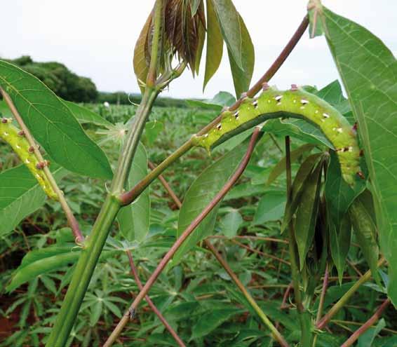
[[[58,196],[53,190],[43,168],[48,165],[48,161],[40,162],[34,154],[34,149],[29,145],[25,138],[25,133],[11,124],[11,118],[1,118],[0,137],[11,145],[22,163],[32,172],[43,191],[52,199],[58,200]]]

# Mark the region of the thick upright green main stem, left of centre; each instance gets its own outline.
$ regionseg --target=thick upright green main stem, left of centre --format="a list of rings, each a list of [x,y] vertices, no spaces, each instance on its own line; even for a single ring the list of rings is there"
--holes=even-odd
[[[162,1],[156,1],[156,13],[162,11]],[[161,7],[158,9],[158,7]],[[161,31],[161,16],[156,15],[154,21],[154,37],[158,38]],[[157,57],[158,44],[152,44],[152,57]],[[157,61],[157,60],[156,60]],[[153,68],[153,64],[151,64]],[[82,250],[77,261],[76,269],[74,270],[72,281],[67,290],[60,312],[58,313],[55,325],[51,330],[50,337],[46,343],[46,347],[64,347],[69,334],[72,330],[74,322],[76,321],[79,308],[83,302],[90,279],[97,264],[97,261],[105,245],[107,236],[117,212],[120,210],[120,201],[118,197],[123,191],[123,186],[130,171],[130,165],[135,156],[137,145],[139,144],[140,136],[142,134],[144,124],[152,109],[152,105],[157,95],[160,93],[160,88],[145,88],[144,95],[140,107],[137,109],[135,115],[135,122],[128,134],[128,139],[123,147],[119,163],[117,165],[116,174],[114,175],[110,193],[108,193],[105,203],[102,205],[100,214],[95,221],[93,230],[86,241],[86,247]],[[116,198],[117,197],[117,198]]]

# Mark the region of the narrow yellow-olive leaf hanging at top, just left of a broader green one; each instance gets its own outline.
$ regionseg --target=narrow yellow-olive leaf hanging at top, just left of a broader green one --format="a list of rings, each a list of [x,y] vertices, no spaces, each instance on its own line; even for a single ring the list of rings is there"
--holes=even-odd
[[[208,81],[220,67],[223,54],[223,38],[220,25],[213,7],[213,0],[207,0],[207,53],[206,73],[204,74],[203,90]]]

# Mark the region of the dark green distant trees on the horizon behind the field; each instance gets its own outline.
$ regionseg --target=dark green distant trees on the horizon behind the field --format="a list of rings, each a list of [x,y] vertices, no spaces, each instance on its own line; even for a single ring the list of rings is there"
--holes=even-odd
[[[6,60],[6,59],[4,59]],[[71,72],[60,62],[34,62],[29,55],[23,55],[13,60],[6,60],[21,69],[36,76],[62,99],[73,102],[109,102],[109,104],[139,104],[140,94],[127,94],[125,92],[98,92],[95,83],[86,77],[81,77]],[[184,100],[170,97],[160,97],[155,102],[156,106],[187,107]]]

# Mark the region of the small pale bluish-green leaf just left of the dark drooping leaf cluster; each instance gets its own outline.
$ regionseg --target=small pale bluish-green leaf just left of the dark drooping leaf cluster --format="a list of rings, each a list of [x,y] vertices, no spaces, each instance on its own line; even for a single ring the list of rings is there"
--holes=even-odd
[[[253,224],[264,224],[281,219],[285,211],[286,200],[285,192],[269,191],[265,193],[258,203]]]

